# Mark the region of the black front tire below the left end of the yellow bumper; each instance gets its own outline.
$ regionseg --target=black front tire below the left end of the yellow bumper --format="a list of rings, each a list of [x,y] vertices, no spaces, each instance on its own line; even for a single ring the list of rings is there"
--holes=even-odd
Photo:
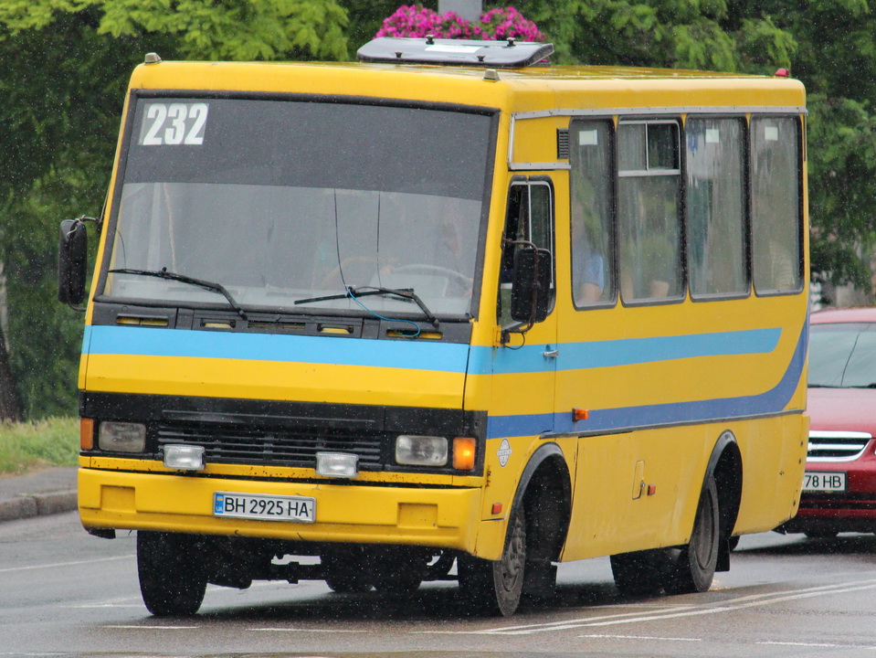
[[[146,609],[156,617],[187,617],[201,607],[206,573],[194,537],[137,532],[137,572]]]

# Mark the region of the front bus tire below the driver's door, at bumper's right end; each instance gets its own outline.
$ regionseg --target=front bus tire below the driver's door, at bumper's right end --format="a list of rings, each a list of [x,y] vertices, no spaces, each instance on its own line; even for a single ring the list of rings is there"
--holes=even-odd
[[[510,617],[520,605],[526,565],[526,520],[521,508],[508,522],[505,547],[498,560],[459,557],[459,587],[470,610]]]

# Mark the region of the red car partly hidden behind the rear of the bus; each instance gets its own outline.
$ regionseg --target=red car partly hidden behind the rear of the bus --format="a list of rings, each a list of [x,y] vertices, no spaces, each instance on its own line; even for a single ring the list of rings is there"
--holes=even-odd
[[[876,308],[818,311],[809,329],[806,475],[777,530],[876,533]]]

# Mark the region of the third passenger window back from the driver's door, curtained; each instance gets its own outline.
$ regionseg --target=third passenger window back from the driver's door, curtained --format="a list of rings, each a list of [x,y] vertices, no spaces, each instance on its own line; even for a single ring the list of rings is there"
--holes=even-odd
[[[691,295],[744,294],[744,124],[689,118],[684,128]]]

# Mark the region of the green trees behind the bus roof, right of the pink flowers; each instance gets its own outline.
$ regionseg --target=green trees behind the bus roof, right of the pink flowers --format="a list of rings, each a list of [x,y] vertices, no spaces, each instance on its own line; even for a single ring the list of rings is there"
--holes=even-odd
[[[876,16],[866,0],[520,0],[516,6],[554,42],[561,63],[762,75],[790,69],[808,93],[812,278],[870,289]]]

